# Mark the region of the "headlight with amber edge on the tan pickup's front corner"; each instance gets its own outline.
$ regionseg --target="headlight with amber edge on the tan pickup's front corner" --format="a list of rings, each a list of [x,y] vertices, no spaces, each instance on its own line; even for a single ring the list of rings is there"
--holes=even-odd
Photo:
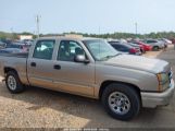
[[[162,92],[168,87],[168,75],[166,73],[157,74],[159,81],[158,91]],[[167,85],[166,85],[167,84]]]

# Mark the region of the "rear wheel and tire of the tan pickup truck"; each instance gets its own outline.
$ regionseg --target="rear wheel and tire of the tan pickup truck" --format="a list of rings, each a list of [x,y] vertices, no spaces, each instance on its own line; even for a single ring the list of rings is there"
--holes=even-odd
[[[14,71],[9,71],[5,76],[5,84],[12,94],[22,93],[25,88]]]

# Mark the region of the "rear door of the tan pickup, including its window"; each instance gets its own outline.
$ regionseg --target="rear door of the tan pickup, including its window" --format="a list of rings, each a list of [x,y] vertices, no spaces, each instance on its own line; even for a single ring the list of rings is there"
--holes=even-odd
[[[52,55],[55,46],[54,39],[38,40],[33,56],[28,58],[27,73],[32,85],[53,87],[53,61]]]

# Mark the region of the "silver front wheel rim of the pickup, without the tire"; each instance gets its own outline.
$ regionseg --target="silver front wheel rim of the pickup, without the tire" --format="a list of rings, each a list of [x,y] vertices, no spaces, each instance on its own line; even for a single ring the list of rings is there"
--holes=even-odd
[[[125,94],[113,92],[109,96],[109,106],[115,114],[125,115],[130,109],[130,102]]]

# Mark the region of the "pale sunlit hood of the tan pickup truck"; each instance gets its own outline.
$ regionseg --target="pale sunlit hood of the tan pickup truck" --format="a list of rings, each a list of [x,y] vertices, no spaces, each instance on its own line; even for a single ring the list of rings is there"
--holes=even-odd
[[[168,62],[159,59],[146,58],[133,55],[120,55],[104,61],[104,64],[129,68],[151,73],[166,72],[170,70]]]

